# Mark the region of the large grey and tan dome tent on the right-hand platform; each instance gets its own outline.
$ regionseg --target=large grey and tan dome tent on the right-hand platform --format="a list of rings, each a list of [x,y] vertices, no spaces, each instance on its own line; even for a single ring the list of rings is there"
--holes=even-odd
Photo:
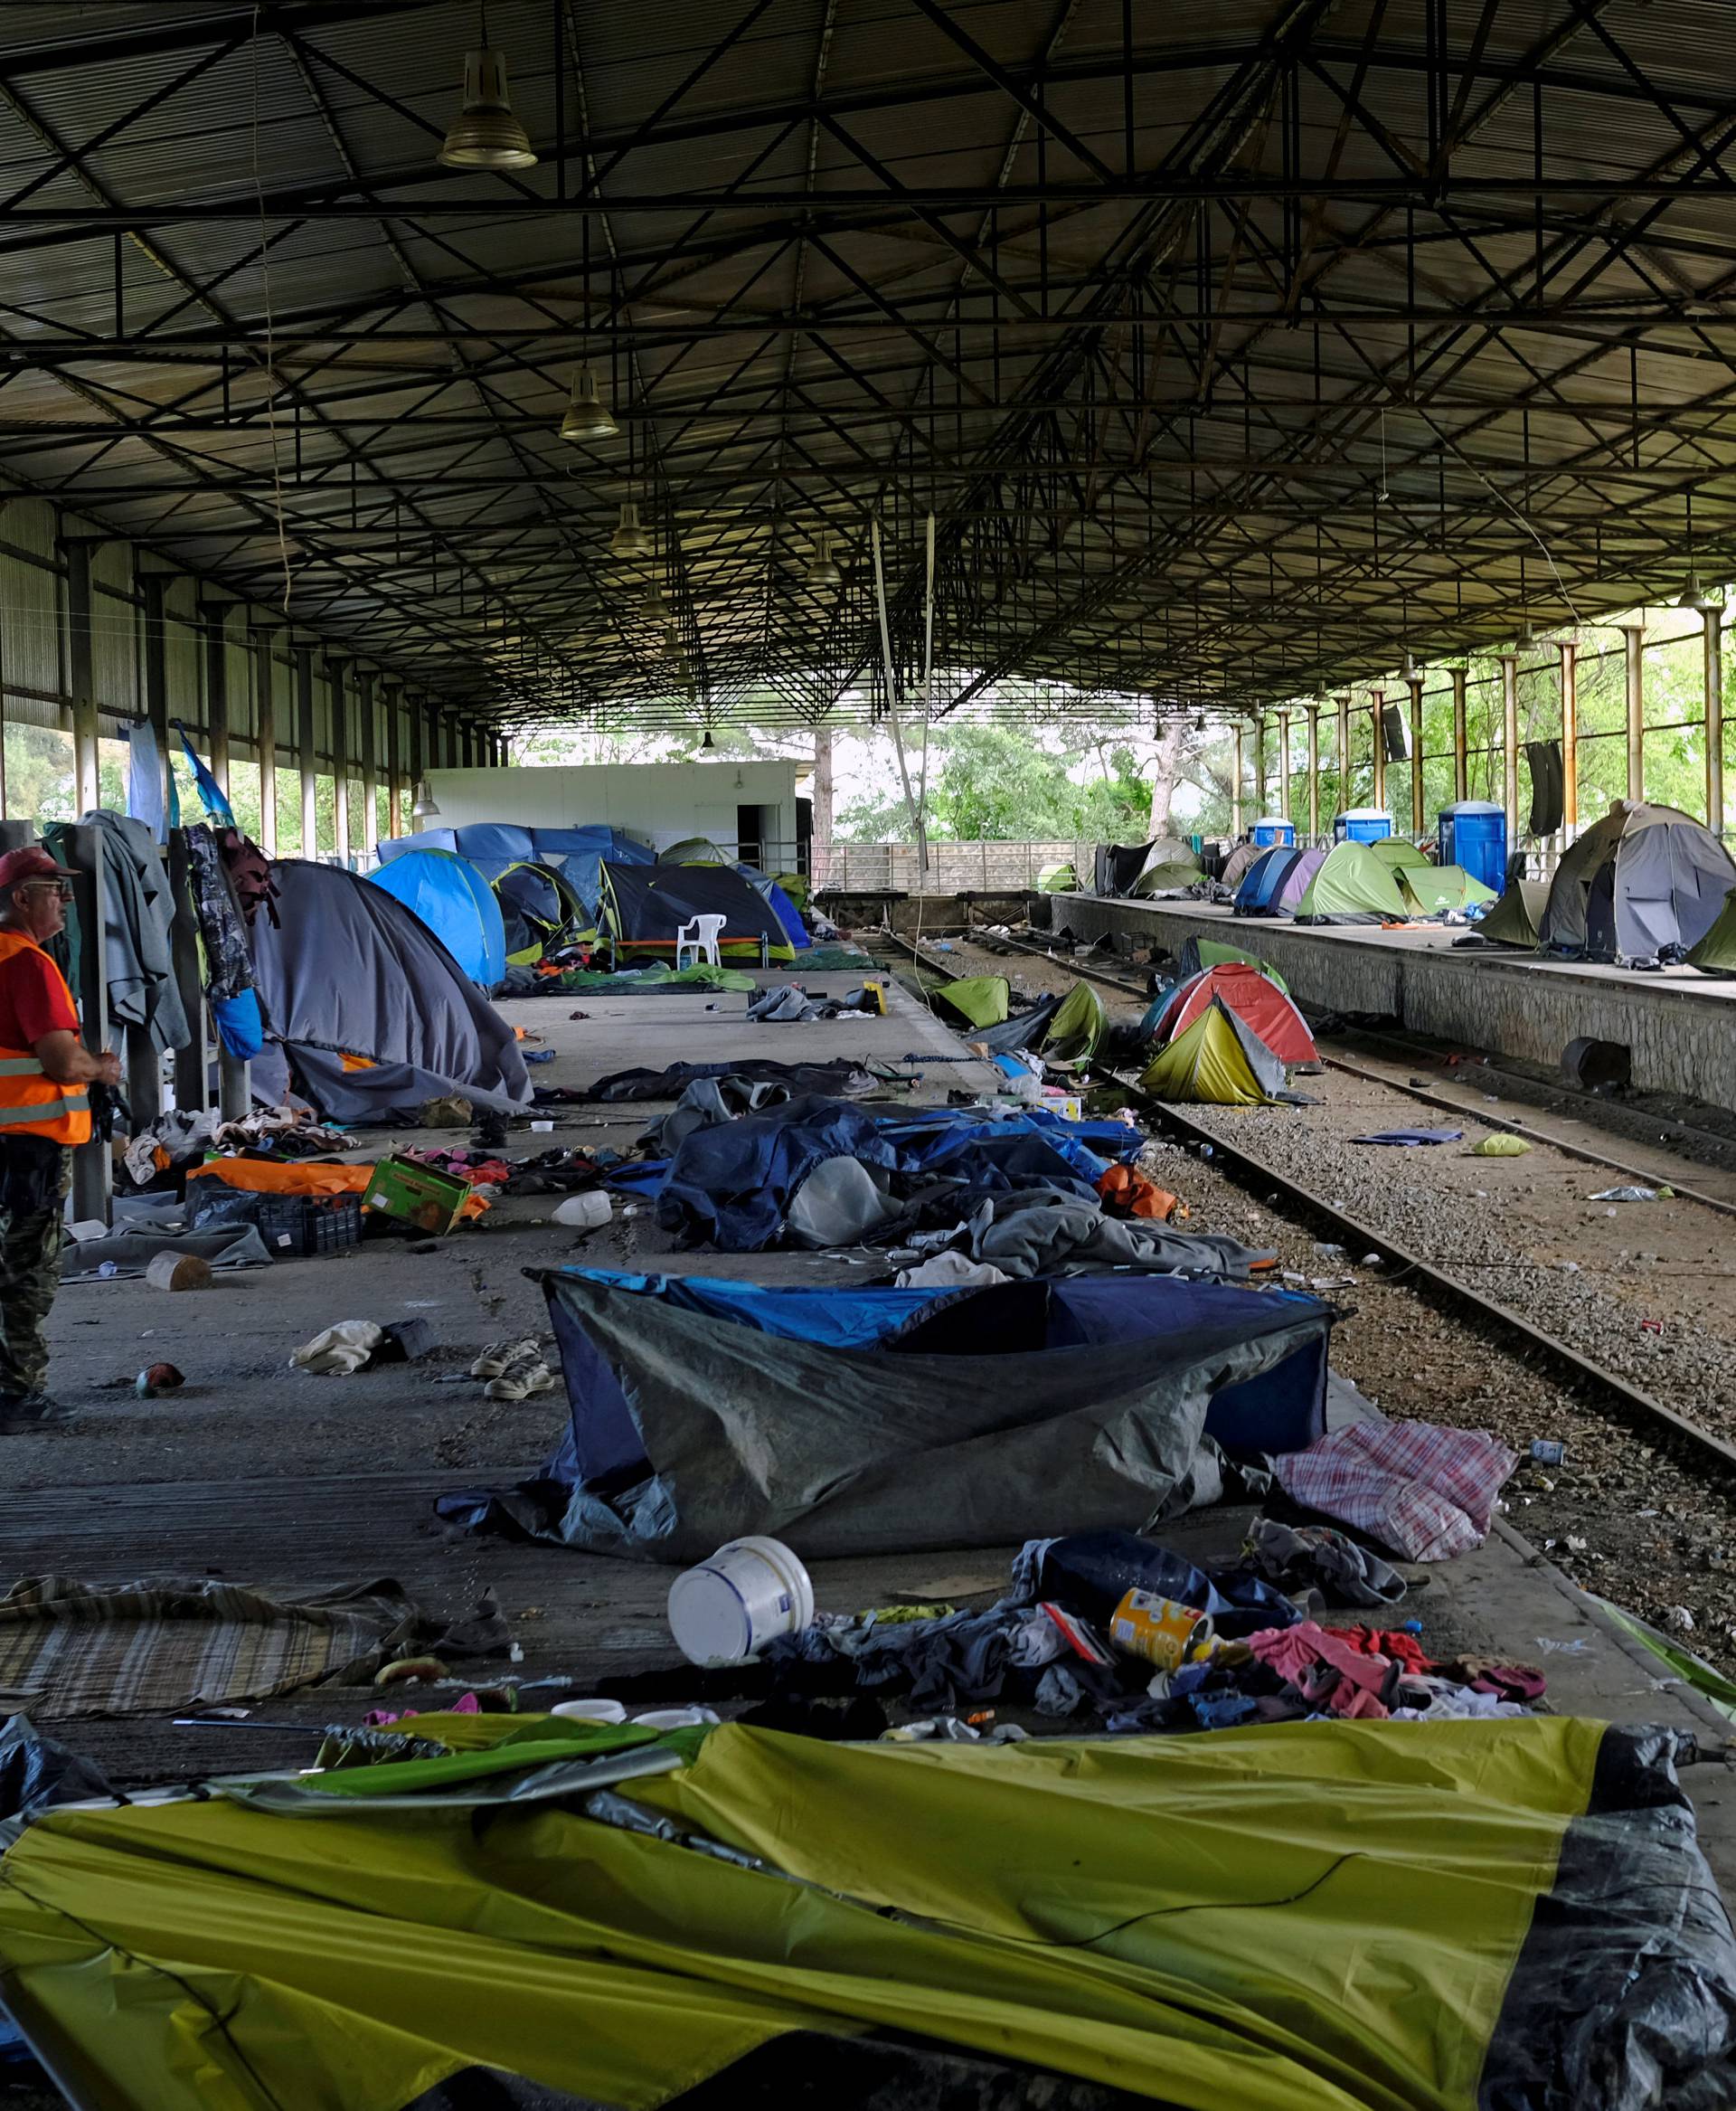
[[[1593,961],[1679,961],[1732,887],[1736,866],[1711,830],[1675,806],[1618,800],[1563,851],[1538,939]]]

